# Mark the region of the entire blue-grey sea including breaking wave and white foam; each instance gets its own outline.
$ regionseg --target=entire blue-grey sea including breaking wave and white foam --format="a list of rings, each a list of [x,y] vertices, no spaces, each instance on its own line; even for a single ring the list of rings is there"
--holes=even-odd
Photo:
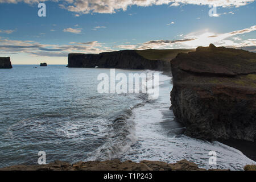
[[[100,73],[110,69],[64,65],[13,65],[0,69],[0,167],[56,159],[187,159],[203,168],[241,170],[255,164],[241,151],[219,142],[183,135],[169,107],[171,77],[162,72],[115,69],[115,73],[159,73],[159,98],[147,94],[100,94]],[[209,164],[216,151],[216,165]]]

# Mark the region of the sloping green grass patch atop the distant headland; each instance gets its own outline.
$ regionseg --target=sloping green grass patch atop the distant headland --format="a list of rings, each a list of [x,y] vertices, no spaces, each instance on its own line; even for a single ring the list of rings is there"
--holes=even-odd
[[[178,53],[188,53],[195,51],[194,49],[146,49],[137,50],[137,53],[149,60],[170,61],[174,59]]]

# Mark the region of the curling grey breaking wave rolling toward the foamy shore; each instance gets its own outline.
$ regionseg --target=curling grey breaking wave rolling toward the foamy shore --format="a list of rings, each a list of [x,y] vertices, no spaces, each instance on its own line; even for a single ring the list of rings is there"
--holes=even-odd
[[[124,95],[124,94],[122,94]],[[112,160],[117,159],[135,143],[135,122],[133,120],[133,110],[144,106],[148,102],[148,93],[133,94],[134,101],[140,101],[133,106],[123,109],[115,113],[109,118],[109,132],[107,141],[102,146],[98,147],[96,151],[91,152],[86,160]],[[125,94],[125,96],[131,96]]]

